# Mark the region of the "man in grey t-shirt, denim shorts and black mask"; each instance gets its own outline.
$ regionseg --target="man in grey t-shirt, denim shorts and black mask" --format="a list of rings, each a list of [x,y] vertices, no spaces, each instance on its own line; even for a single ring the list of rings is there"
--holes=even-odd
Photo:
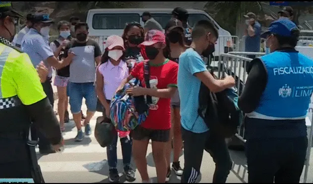
[[[79,22],[75,25],[76,38],[71,40],[65,50],[73,52],[73,58],[69,67],[69,105],[77,127],[75,141],[82,141],[83,132],[81,130],[81,105],[85,98],[87,106],[87,116],[84,121],[85,134],[91,134],[90,120],[97,109],[97,95],[95,90],[96,63],[101,61],[101,50],[99,45],[88,39],[88,25]],[[67,52],[65,52],[65,55]]]

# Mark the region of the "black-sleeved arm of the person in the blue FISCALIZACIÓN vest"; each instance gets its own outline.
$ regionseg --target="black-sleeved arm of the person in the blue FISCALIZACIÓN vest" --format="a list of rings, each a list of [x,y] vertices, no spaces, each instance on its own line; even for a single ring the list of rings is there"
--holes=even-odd
[[[249,70],[244,90],[238,100],[238,106],[244,113],[250,113],[257,108],[267,84],[267,71],[260,59],[251,61]]]

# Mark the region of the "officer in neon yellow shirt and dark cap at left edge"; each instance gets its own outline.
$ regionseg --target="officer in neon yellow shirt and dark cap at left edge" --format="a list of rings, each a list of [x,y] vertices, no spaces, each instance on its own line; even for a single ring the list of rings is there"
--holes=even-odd
[[[31,119],[52,143],[62,146],[59,122],[27,54],[10,44],[22,17],[11,2],[0,2],[0,178],[33,178],[27,145]],[[34,153],[34,152],[33,152]],[[35,154],[33,154],[34,156]],[[35,160],[37,162],[37,159]]]

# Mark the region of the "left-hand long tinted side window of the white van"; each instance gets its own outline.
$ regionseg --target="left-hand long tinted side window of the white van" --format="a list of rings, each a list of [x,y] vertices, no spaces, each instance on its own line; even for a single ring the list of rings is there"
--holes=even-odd
[[[98,13],[92,18],[93,29],[124,29],[128,22],[140,22],[140,15],[137,13]]]

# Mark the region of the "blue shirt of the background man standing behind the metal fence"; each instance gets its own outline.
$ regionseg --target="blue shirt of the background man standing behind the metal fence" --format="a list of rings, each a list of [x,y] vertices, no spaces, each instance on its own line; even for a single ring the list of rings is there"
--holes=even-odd
[[[246,36],[245,51],[246,52],[260,52],[261,46],[261,25],[258,22],[255,22],[253,25],[255,32],[254,36]]]

